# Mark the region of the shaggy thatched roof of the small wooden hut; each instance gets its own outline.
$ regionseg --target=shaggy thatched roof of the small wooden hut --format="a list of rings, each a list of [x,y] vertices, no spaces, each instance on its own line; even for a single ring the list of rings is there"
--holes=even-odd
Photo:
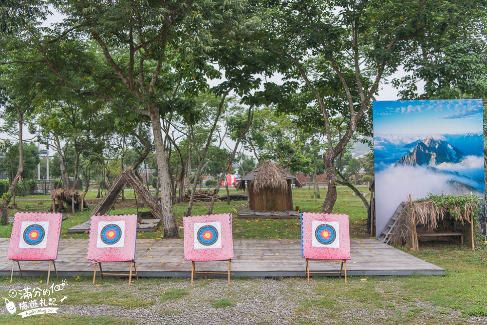
[[[237,184],[237,190],[245,188],[245,181],[252,182],[254,191],[262,190],[278,190],[285,191],[288,188],[287,181],[290,179],[296,180],[296,187],[302,187],[301,182],[296,176],[287,172],[284,168],[276,165],[271,161],[264,162],[261,166],[249,172],[240,179]]]

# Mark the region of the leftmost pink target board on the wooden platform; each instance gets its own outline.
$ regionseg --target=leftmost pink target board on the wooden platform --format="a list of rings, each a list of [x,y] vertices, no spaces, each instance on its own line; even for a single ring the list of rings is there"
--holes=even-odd
[[[17,212],[7,258],[23,261],[55,260],[61,221],[61,213]]]

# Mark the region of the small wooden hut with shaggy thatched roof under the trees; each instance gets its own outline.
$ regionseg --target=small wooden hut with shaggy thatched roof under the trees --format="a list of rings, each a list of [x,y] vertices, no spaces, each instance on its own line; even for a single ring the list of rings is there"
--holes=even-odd
[[[237,190],[247,187],[250,210],[286,211],[293,210],[292,181],[302,187],[293,174],[271,161],[246,174],[237,184]]]

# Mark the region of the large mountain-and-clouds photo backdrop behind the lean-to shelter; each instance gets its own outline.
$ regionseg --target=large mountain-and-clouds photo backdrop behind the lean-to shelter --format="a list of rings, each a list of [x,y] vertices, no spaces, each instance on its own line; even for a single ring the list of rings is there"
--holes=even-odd
[[[373,105],[377,235],[409,194],[485,197],[481,99]]]

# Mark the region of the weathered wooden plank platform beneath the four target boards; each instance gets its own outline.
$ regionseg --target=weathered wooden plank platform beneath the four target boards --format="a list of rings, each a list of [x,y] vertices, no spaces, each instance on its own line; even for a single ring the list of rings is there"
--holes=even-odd
[[[0,275],[10,275],[12,261],[7,259],[10,239],[0,238]],[[88,239],[61,239],[56,267],[60,276],[93,275],[88,268]],[[352,239],[352,259],[347,275],[445,275],[445,270],[375,239]],[[139,276],[189,277],[191,262],[184,260],[182,239],[138,239],[135,262]],[[48,262],[22,262],[26,275],[47,272]],[[130,263],[103,263],[104,271],[129,271]],[[235,239],[232,276],[304,276],[305,259],[299,239]],[[226,271],[226,262],[196,262],[197,271]],[[339,270],[333,262],[311,262],[311,271]],[[17,265],[14,276],[19,276]],[[318,273],[319,275],[319,273]],[[333,275],[333,274],[327,274]]]

